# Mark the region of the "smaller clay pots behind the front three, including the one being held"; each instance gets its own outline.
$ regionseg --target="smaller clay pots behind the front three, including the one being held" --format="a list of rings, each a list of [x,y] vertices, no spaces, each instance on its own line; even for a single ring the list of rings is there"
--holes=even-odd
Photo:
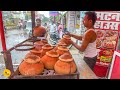
[[[54,48],[55,50],[57,50],[57,52],[60,55],[69,51],[66,48],[68,45],[70,45],[67,43],[68,39],[70,39],[70,37],[68,35],[64,35],[63,38],[58,42],[57,46]],[[34,43],[34,46],[35,46],[35,49],[31,50],[29,54],[32,53],[40,57],[43,57],[47,51],[50,51],[53,49],[53,47],[48,44],[47,40],[37,41]],[[64,47],[59,47],[59,46],[64,46]]]

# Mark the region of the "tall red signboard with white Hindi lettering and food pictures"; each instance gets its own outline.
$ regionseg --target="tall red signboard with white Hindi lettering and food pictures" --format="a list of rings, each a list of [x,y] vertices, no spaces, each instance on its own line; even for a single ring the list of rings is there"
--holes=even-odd
[[[94,27],[97,33],[96,47],[99,52],[94,72],[97,76],[105,77],[118,43],[120,12],[96,11],[96,14],[97,21]],[[105,67],[104,73],[101,73],[104,70],[101,67]]]

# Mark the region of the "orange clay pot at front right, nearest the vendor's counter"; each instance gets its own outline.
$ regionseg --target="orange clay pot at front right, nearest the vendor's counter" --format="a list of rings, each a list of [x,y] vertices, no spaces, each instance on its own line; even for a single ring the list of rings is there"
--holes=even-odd
[[[77,67],[69,54],[63,54],[55,63],[54,69],[57,74],[72,74],[76,72]]]

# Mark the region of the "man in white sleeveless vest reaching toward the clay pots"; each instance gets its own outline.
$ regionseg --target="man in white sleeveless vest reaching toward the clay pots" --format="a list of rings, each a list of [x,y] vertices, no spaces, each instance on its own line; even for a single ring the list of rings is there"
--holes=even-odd
[[[86,12],[83,24],[87,28],[86,32],[83,36],[77,36],[71,33],[67,33],[73,38],[78,40],[82,40],[81,46],[77,45],[72,40],[68,42],[74,45],[78,50],[84,52],[84,61],[88,64],[88,66],[94,70],[94,66],[97,60],[97,49],[96,49],[96,38],[97,34],[94,29],[94,24],[96,22],[97,16],[95,12]]]

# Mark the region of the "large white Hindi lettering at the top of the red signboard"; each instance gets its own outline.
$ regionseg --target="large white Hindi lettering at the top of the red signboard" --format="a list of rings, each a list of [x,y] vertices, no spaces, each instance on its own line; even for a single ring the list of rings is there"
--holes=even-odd
[[[120,12],[98,12],[95,28],[100,30],[118,30],[120,24]]]

